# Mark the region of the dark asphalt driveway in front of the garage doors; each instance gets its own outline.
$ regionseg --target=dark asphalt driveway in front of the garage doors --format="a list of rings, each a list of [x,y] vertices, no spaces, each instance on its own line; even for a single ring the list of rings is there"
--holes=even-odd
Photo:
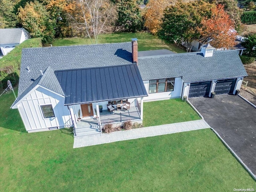
[[[256,109],[239,96],[227,94],[189,101],[256,174]]]

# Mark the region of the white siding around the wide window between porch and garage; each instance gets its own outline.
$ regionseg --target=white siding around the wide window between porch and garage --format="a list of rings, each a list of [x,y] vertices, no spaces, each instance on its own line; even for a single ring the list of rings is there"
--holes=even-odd
[[[156,100],[166,100],[166,99],[172,99],[172,98],[181,98],[182,84],[183,84],[183,80],[181,77],[175,78],[174,90],[168,91],[168,92],[149,93],[149,80],[143,81],[143,83],[144,83],[144,86],[148,93],[148,96],[144,97],[144,102],[156,101]]]

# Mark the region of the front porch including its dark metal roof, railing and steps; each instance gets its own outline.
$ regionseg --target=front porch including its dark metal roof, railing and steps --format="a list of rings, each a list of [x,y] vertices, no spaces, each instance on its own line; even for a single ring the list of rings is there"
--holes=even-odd
[[[136,64],[54,73],[65,92],[75,136],[100,133],[102,124],[143,119],[148,94]]]

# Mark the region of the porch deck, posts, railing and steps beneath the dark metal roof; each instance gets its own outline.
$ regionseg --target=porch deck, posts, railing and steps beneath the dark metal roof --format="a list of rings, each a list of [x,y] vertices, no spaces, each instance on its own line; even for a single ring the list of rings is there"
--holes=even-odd
[[[70,113],[74,118],[74,136],[99,134],[101,133],[102,126],[107,123],[120,124],[127,120],[142,121],[143,111],[141,109],[143,108],[143,98],[130,98],[122,100],[118,104],[119,102],[120,100],[86,104],[86,112],[82,110],[84,104],[69,106]],[[123,108],[126,103],[130,103],[128,110]],[[108,110],[107,105],[109,104],[114,110]],[[79,110],[81,119],[78,120]],[[87,116],[87,114],[90,115]]]

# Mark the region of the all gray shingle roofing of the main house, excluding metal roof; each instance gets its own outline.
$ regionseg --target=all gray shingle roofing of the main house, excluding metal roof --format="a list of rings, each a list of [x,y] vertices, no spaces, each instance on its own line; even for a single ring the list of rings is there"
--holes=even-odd
[[[18,98],[36,84],[63,95],[54,71],[128,65],[132,64],[131,52],[130,42],[23,49]],[[142,80],[182,76],[184,82],[193,82],[247,76],[235,50],[214,51],[206,58],[200,52],[151,54],[138,57],[138,69]],[[44,72],[42,78],[40,70]]]

